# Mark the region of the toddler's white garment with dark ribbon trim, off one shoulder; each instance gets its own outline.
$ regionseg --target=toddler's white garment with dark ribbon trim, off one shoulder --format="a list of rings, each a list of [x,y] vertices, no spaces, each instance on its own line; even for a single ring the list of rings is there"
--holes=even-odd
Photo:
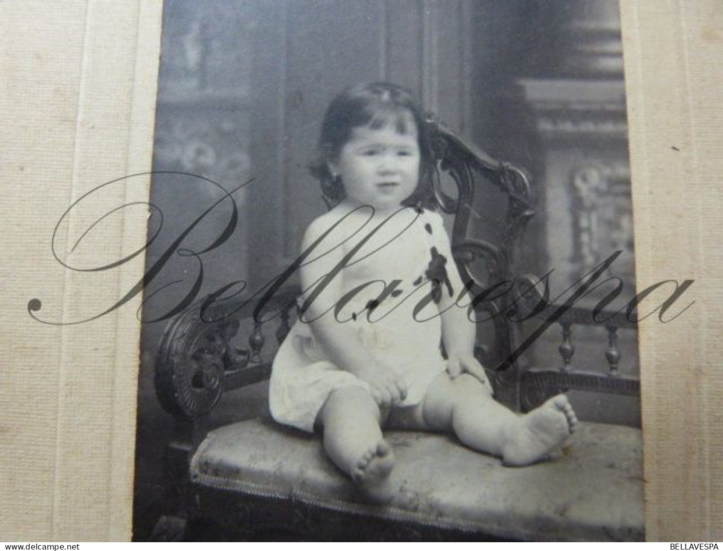
[[[428,210],[418,213],[411,231],[419,233],[422,246],[414,262],[395,267],[395,279],[401,283],[393,294],[377,305],[352,300],[338,315],[339,320],[354,324],[359,340],[373,359],[406,382],[408,393],[399,407],[419,404],[429,383],[446,369],[440,351],[442,333],[437,305],[427,299],[427,306],[416,315],[415,308],[432,288],[429,278],[435,276],[428,271],[432,257],[440,260],[442,255],[447,260],[445,268],[456,270],[442,218]],[[442,283],[440,291],[451,294],[451,287]],[[330,362],[309,323],[294,323],[273,362],[269,386],[272,417],[282,424],[312,432],[329,394],[343,387],[370,390],[367,383]]]

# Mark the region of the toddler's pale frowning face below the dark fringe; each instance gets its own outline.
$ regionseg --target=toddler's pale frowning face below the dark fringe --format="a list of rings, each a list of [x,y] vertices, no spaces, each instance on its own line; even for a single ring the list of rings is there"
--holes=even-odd
[[[411,115],[409,117],[411,119]],[[419,138],[411,119],[406,132],[394,121],[384,127],[356,127],[330,168],[341,176],[346,199],[371,205],[379,211],[394,210],[419,183]]]

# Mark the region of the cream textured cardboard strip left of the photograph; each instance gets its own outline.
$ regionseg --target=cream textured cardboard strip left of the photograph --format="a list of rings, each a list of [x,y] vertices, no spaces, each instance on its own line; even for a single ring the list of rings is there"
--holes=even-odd
[[[140,297],[92,323],[140,278],[142,255],[82,273],[51,252],[61,215],[104,181],[150,169],[161,3],[0,3],[3,356],[0,539],[127,540]],[[75,266],[119,259],[145,242],[147,178],[116,186],[59,227]]]

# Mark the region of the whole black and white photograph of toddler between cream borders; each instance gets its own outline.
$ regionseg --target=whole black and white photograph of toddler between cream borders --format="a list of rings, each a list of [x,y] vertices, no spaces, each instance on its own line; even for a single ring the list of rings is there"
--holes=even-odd
[[[166,1],[153,143],[135,541],[644,539],[617,1]]]

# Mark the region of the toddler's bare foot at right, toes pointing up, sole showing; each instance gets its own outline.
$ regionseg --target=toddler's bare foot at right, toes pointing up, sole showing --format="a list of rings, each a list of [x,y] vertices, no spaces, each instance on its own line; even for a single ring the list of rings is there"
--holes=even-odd
[[[516,420],[502,462],[507,466],[525,466],[547,458],[575,432],[578,419],[566,396],[550,398],[542,406]]]

